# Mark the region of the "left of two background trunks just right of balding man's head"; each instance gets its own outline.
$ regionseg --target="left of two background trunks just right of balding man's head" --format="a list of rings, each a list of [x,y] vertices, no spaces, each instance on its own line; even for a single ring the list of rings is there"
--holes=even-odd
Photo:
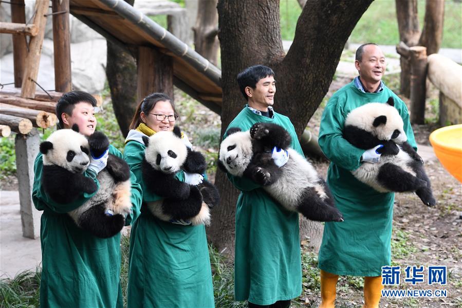
[[[417,15],[417,0],[396,0],[396,16],[398,20],[399,40],[408,47],[419,42],[420,29]],[[410,59],[400,57],[401,77],[399,92],[405,97],[411,96],[411,64]]]

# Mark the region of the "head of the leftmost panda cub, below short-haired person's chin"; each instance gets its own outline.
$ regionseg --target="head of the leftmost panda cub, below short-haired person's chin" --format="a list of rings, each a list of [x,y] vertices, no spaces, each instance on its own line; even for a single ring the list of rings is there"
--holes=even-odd
[[[40,144],[43,165],[57,165],[72,173],[82,173],[90,163],[90,147],[82,134],[63,129],[52,133]]]

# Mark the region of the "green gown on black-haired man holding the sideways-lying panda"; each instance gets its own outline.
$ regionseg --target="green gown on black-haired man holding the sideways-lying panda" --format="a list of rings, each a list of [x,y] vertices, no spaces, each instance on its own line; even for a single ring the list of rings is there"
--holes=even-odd
[[[292,123],[281,114],[274,112],[268,118],[245,107],[228,129],[239,127],[248,131],[257,122],[283,126],[292,137],[291,147],[303,155]],[[236,204],[235,299],[269,305],[299,296],[302,292],[299,214],[276,203],[252,180],[229,174],[228,178],[241,190]]]

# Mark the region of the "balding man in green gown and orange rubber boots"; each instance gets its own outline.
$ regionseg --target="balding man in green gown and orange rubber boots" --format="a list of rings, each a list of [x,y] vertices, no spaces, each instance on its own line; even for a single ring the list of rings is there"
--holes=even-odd
[[[382,81],[386,67],[383,52],[376,44],[364,44],[356,52],[355,66],[359,77],[330,98],[320,124],[319,145],[331,161],[327,184],[345,220],[325,223],[319,250],[323,308],[334,307],[339,275],[364,277],[364,307],[378,307],[381,267],[391,263],[395,194],[377,192],[350,172],[362,161],[377,161],[380,154],[374,149],[358,149],[342,137],[346,115],[363,104],[385,103],[393,97],[408,142],[417,150],[406,105]]]

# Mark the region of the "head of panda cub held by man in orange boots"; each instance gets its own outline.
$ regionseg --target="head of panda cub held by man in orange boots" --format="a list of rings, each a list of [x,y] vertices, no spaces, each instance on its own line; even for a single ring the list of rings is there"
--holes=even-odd
[[[345,119],[347,125],[363,129],[379,140],[393,140],[401,144],[408,139],[403,120],[394,107],[393,97],[386,103],[367,103],[355,108]]]

